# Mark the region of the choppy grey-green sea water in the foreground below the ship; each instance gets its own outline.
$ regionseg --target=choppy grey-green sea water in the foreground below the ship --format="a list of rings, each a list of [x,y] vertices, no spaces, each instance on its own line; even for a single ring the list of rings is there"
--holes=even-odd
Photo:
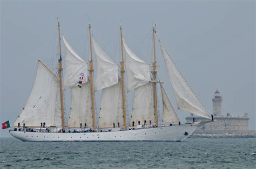
[[[256,168],[255,138],[183,142],[22,142],[0,138],[0,168]]]

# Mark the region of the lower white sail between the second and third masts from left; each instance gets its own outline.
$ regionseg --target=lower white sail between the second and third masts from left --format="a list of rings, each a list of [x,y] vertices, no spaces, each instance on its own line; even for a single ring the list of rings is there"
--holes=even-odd
[[[99,111],[99,128],[112,128],[113,122],[119,122],[120,127],[124,125],[122,83],[104,88],[102,91],[102,102]]]

